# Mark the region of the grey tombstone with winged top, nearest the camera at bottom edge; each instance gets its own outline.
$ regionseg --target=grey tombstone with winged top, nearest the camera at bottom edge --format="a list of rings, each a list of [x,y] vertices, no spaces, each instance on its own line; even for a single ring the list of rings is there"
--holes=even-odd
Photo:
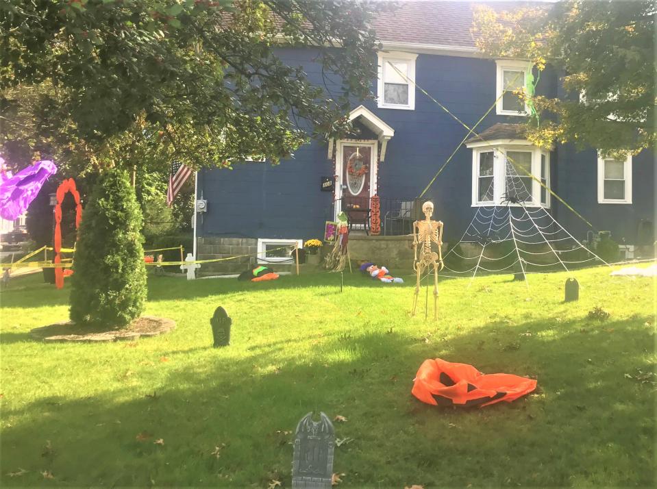
[[[301,418],[295,433],[292,487],[330,489],[333,479],[335,430],[323,412],[312,421],[312,412]]]

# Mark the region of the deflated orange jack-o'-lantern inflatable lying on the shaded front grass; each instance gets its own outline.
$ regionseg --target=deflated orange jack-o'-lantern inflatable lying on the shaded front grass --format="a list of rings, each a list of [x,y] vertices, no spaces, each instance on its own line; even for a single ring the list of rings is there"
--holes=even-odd
[[[415,376],[412,394],[433,405],[480,406],[510,403],[536,388],[536,380],[508,373],[484,375],[472,365],[425,360]]]

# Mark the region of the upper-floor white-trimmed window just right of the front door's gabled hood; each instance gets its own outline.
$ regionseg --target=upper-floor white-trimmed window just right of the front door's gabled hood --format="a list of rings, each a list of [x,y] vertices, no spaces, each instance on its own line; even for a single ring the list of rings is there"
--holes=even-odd
[[[380,108],[415,109],[414,53],[379,53],[377,98]],[[409,81],[410,80],[410,81]]]

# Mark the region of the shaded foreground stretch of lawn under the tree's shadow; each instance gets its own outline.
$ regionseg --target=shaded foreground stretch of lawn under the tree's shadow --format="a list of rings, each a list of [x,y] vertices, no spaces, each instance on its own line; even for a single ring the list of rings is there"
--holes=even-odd
[[[262,487],[275,479],[289,487],[290,431],[322,410],[348,420],[335,423],[345,441],[334,471],[345,473],[345,486],[654,486],[654,391],[624,376],[646,366],[647,320],[495,321],[417,334],[416,324],[388,332],[382,320],[284,360],[268,349],[239,360],[234,347],[163,350],[173,356],[167,364],[125,364],[149,382],[130,377],[86,399],[46,385],[29,405],[3,399],[12,426],[1,477],[12,486],[43,484],[40,472],[51,471],[47,483],[58,485]],[[195,362],[176,368],[177,353]],[[436,357],[532,375],[540,389],[482,409],[425,405],[411,396],[412,379]],[[54,383],[76,374],[51,375]],[[29,473],[6,475],[18,468]]]

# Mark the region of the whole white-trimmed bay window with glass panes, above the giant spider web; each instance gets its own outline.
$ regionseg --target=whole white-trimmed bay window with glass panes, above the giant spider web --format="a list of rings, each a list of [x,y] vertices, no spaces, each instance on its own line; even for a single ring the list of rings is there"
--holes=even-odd
[[[550,206],[549,151],[525,142],[469,145],[472,151],[472,205]],[[534,177],[536,177],[534,179]],[[538,183],[538,182],[541,183]],[[546,188],[547,187],[547,188]]]

